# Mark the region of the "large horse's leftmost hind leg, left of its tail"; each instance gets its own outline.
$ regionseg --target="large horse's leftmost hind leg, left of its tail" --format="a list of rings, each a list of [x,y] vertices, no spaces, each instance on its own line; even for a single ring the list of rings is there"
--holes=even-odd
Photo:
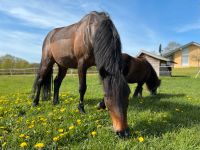
[[[41,61],[41,66],[37,77],[38,80],[36,81],[36,96],[33,100],[32,104],[33,106],[37,106],[39,104],[40,91],[43,84],[43,80],[52,67],[53,67],[53,62],[50,59]]]

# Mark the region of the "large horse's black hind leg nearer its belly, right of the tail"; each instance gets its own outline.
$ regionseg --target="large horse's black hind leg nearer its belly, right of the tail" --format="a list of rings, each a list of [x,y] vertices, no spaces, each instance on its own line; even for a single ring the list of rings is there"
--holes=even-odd
[[[54,105],[59,103],[59,89],[66,73],[67,73],[67,68],[61,66],[58,67],[58,75],[54,79],[54,97],[53,97]]]

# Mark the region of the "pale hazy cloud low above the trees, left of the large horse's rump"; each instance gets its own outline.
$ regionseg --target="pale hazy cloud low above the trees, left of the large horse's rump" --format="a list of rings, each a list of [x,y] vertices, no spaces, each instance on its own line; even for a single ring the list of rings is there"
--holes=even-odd
[[[0,35],[0,55],[11,54],[31,62],[40,60],[41,35],[13,30],[0,30]]]

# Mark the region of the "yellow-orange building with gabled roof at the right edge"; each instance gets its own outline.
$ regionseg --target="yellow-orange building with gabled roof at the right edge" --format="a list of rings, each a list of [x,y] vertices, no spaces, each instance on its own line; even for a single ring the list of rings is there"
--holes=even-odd
[[[163,57],[176,62],[174,64],[175,68],[198,67],[200,65],[200,44],[190,42],[175,50],[164,53]]]

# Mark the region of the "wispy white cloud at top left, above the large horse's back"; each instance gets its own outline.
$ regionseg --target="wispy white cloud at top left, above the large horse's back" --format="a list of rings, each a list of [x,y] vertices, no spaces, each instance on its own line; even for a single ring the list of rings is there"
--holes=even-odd
[[[68,11],[62,5],[44,3],[44,1],[19,1],[0,3],[0,11],[20,19],[21,23],[37,28],[52,28],[74,23],[79,19],[77,14]]]

